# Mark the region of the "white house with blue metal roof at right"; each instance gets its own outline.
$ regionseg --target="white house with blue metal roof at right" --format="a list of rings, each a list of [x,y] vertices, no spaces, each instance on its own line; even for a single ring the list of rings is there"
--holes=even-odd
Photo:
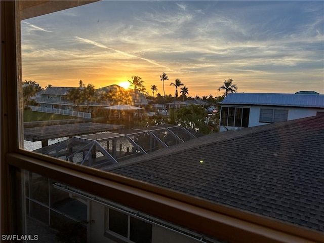
[[[293,120],[324,112],[324,95],[229,93],[221,106],[220,132]]]

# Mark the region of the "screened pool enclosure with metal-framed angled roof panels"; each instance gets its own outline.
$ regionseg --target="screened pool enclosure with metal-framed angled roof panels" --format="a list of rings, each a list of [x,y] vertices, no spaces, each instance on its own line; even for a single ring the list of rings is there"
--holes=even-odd
[[[184,143],[201,135],[174,125],[119,129],[114,132],[75,136],[37,149],[35,152],[74,164],[102,169],[135,156]]]

